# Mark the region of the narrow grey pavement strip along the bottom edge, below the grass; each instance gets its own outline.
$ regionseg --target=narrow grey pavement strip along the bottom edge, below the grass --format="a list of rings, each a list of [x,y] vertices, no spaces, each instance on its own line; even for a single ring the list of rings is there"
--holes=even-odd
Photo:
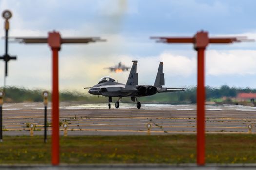
[[[255,164],[85,164],[85,165],[1,165],[0,170],[255,170]]]

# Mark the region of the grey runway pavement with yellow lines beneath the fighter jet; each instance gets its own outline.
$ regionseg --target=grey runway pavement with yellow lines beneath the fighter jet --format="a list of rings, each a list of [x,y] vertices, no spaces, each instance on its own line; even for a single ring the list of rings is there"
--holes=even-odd
[[[195,105],[134,105],[104,109],[106,104],[60,107],[60,123],[67,122],[68,135],[137,135],[196,133]],[[51,123],[51,108],[48,109]],[[29,123],[35,123],[35,135],[43,134],[44,110],[41,103],[3,105],[4,135],[29,135]],[[244,106],[206,106],[207,133],[247,133],[248,124],[256,125],[256,108]],[[63,127],[60,133],[63,135]],[[256,129],[256,128],[255,128]],[[252,132],[256,132],[254,128]],[[51,127],[48,127],[49,135]]]

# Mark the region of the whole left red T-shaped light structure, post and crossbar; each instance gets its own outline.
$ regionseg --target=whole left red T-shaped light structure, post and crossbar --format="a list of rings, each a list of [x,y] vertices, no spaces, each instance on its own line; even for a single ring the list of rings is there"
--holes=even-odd
[[[47,43],[52,51],[52,165],[59,165],[59,50],[62,44],[86,44],[104,42],[100,37],[61,38],[59,32],[49,32],[48,37],[17,37],[16,41],[26,44]]]

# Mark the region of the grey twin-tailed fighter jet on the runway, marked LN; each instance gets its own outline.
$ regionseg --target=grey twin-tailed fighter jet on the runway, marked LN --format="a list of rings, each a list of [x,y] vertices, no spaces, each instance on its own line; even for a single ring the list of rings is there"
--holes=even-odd
[[[115,107],[119,108],[119,101],[122,97],[131,97],[133,102],[137,102],[137,108],[140,109],[141,103],[138,102],[138,97],[150,96],[156,93],[166,93],[175,91],[184,91],[185,88],[165,88],[164,85],[164,73],[163,62],[160,62],[158,73],[154,85],[138,85],[138,73],[137,73],[137,61],[132,61],[133,66],[131,68],[128,80],[126,84],[118,83],[111,77],[103,77],[98,84],[93,87],[85,87],[84,89],[90,89],[88,92],[93,95],[103,95],[108,97],[108,108],[111,108],[110,102],[112,97],[118,97],[118,101],[115,103]]]

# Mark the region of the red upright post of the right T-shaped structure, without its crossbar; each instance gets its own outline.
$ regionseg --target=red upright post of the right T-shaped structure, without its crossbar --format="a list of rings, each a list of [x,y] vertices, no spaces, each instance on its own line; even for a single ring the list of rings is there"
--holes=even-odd
[[[204,50],[197,48],[197,165],[205,164]]]

